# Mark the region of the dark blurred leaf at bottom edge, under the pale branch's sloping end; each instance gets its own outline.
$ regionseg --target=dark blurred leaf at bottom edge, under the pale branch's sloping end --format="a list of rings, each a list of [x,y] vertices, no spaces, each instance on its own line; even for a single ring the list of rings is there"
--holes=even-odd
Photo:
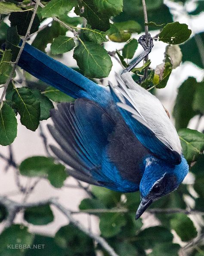
[[[68,250],[69,256],[96,256],[93,240],[73,224],[61,227],[55,240],[61,248]]]

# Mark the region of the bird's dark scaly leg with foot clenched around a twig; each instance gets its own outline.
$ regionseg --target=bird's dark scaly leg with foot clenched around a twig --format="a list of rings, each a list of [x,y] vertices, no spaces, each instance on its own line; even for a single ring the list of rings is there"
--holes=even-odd
[[[139,37],[138,42],[140,45],[142,45],[142,48],[145,50],[139,57],[136,59],[136,61],[128,66],[126,69],[123,70],[122,74],[125,72],[130,72],[137,64],[139,64],[140,61],[142,61],[150,52],[153,45],[153,40],[151,38],[151,35],[148,34],[148,41],[145,42],[145,35],[142,35]]]

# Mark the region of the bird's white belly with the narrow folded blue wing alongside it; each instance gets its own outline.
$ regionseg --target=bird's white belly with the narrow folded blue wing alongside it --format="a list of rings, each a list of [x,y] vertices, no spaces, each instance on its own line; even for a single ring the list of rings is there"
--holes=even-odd
[[[118,86],[111,88],[114,100],[127,125],[151,153],[172,164],[181,162],[179,136],[161,102],[134,82],[126,72]],[[123,100],[119,101],[121,96]]]

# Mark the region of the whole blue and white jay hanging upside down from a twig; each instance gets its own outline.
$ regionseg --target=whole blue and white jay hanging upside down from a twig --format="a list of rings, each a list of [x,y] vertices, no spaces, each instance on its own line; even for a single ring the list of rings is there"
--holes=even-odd
[[[69,174],[119,192],[139,191],[136,219],[178,188],[189,171],[179,136],[161,102],[130,75],[153,47],[139,38],[144,52],[118,77],[116,85],[98,85],[82,74],[25,44],[19,67],[75,99],[50,112],[53,154]]]

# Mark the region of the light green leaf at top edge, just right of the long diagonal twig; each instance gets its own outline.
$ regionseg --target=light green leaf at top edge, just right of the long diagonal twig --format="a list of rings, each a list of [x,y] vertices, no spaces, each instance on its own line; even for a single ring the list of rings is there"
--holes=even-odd
[[[43,18],[58,17],[68,13],[75,5],[77,0],[51,0],[42,10]]]

